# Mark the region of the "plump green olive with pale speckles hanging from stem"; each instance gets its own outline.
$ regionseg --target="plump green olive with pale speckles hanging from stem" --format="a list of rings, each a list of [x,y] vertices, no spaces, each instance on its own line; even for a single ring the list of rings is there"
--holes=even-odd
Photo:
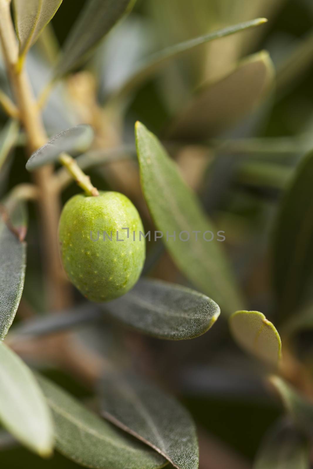
[[[129,238],[122,228],[129,228]],[[116,240],[117,231],[124,241]],[[144,233],[136,208],[118,192],[100,192],[98,197],[79,194],[65,204],[59,223],[62,264],[86,298],[113,300],[135,285],[145,262],[145,238],[139,240],[139,231]]]

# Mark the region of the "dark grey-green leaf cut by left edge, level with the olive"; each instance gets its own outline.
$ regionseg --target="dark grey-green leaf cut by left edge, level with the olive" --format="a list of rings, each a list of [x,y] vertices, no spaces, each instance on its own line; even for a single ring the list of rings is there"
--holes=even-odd
[[[26,269],[26,244],[9,229],[4,217],[0,212],[0,340],[5,338],[15,318]]]

